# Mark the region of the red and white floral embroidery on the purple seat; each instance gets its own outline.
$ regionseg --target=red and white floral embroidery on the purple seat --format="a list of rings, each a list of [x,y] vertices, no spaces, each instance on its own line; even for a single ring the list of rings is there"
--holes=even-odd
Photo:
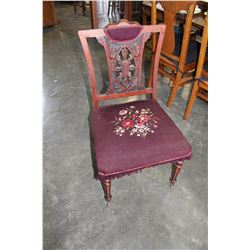
[[[125,133],[146,137],[148,134],[154,133],[154,129],[158,127],[160,118],[154,116],[150,109],[136,109],[135,106],[119,111],[119,115],[113,121],[115,129],[114,133],[123,136]]]

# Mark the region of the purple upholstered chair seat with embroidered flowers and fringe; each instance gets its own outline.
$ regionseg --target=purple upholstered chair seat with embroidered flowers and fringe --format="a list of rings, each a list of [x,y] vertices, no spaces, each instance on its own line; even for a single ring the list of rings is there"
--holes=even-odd
[[[100,107],[92,123],[101,180],[191,158],[191,145],[154,100]]]

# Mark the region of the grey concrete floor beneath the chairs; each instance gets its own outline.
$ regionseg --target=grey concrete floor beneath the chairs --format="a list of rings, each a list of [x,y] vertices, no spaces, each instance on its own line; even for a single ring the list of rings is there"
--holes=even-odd
[[[184,122],[188,89],[166,110],[169,86],[159,77],[158,101],[192,144],[193,158],[173,190],[169,164],[114,180],[106,207],[93,178],[90,88],[77,35],[90,19],[66,4],[57,4],[57,15],[60,25],[43,36],[44,249],[207,249],[207,104],[197,100]],[[96,42],[91,48],[100,74],[104,54]]]

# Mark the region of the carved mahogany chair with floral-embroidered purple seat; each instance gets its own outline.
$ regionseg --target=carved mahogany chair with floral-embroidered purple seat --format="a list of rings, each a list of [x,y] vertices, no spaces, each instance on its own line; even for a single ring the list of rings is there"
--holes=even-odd
[[[104,29],[81,30],[79,37],[89,70],[94,111],[91,116],[97,178],[107,204],[111,201],[111,180],[144,168],[172,163],[171,186],[176,182],[183,161],[192,148],[156,101],[157,75],[165,25],[145,25],[121,20]],[[142,82],[145,42],[158,33],[152,87]],[[109,69],[106,94],[97,93],[95,69],[87,38],[96,38],[104,47]],[[99,107],[114,98],[150,95],[149,100]]]

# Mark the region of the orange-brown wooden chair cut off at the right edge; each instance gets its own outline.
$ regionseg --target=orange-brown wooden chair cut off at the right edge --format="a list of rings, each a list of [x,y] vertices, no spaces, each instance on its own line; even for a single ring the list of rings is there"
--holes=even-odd
[[[200,97],[204,101],[208,101],[208,62],[206,60],[206,52],[208,45],[208,16],[205,17],[205,25],[201,39],[201,49],[193,89],[184,113],[184,120],[189,118],[196,97]]]

